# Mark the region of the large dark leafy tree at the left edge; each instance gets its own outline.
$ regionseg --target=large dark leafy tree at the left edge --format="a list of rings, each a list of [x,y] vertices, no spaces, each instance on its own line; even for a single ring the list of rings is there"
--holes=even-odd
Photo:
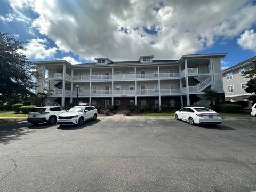
[[[0,100],[6,101],[14,95],[22,98],[33,95],[35,78],[40,78],[31,63],[22,53],[26,43],[0,32]]]

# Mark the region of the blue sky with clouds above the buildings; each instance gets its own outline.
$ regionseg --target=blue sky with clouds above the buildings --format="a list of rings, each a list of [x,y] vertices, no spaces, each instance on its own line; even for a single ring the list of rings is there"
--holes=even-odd
[[[25,41],[30,61],[180,59],[227,53],[226,69],[255,56],[252,0],[0,0],[0,32]]]

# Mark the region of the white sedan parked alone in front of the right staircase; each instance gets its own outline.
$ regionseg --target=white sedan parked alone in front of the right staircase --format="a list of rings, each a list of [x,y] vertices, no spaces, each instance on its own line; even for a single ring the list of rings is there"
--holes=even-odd
[[[174,114],[175,119],[181,119],[194,124],[221,124],[220,114],[205,107],[184,107]]]

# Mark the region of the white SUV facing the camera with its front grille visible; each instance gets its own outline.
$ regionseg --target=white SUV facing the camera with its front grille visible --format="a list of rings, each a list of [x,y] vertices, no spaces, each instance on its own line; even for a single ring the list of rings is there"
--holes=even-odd
[[[97,109],[94,106],[75,106],[58,116],[58,125],[75,125],[81,126],[88,119],[97,119]]]

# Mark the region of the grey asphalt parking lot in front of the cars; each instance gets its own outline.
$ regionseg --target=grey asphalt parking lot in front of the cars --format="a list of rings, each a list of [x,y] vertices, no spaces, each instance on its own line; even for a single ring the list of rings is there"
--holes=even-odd
[[[0,191],[256,191],[256,119],[0,127]]]

